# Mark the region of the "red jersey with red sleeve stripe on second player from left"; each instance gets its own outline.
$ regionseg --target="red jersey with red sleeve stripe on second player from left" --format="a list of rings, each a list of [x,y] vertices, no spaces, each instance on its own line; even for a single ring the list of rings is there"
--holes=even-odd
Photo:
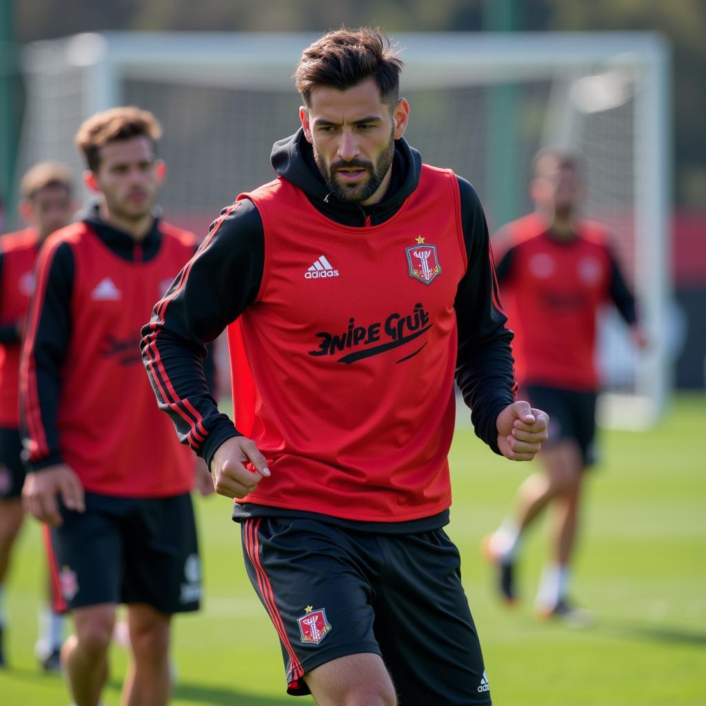
[[[193,458],[155,406],[140,361],[140,326],[196,244],[191,233],[164,223],[159,232],[155,256],[128,261],[87,223],[78,222],[49,237],[37,263],[37,301],[30,311],[21,368],[30,462],[41,467],[42,460],[56,453],[56,432],[60,460],[78,474],[87,491],[159,497],[193,486]],[[37,364],[37,328],[56,289],[51,285],[52,263],[66,246],[73,256],[71,335],[52,411],[41,400],[44,371]]]

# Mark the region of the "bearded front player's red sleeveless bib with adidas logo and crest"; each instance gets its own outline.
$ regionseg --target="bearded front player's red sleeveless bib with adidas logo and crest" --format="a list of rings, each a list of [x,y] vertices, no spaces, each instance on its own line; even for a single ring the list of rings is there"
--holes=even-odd
[[[284,179],[239,198],[262,217],[265,269],[229,328],[235,423],[272,471],[242,502],[376,522],[448,508],[467,265],[453,172],[424,165],[364,229]]]

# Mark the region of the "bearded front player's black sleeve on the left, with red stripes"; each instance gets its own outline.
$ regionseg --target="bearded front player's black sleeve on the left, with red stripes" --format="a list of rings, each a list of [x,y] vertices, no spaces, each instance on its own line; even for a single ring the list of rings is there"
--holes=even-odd
[[[255,301],[264,264],[260,214],[251,201],[238,201],[213,222],[142,330],[140,348],[157,403],[172,417],[179,441],[209,467],[215,450],[239,432],[210,393],[205,344]]]

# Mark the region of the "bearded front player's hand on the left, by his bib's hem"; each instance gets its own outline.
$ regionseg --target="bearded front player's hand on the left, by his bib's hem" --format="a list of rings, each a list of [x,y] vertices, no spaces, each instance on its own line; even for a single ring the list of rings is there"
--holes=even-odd
[[[253,465],[253,470],[245,467]],[[258,483],[270,476],[267,460],[256,443],[244,436],[233,436],[224,441],[211,459],[213,487],[227,498],[244,498],[256,489]]]

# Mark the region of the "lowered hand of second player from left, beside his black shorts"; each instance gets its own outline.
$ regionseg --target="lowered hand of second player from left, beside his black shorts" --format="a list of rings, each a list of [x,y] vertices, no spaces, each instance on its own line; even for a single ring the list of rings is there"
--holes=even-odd
[[[78,476],[66,464],[42,468],[28,473],[22,488],[22,504],[25,511],[47,525],[61,525],[61,513],[56,496],[68,510],[83,513],[85,499],[83,486]]]

